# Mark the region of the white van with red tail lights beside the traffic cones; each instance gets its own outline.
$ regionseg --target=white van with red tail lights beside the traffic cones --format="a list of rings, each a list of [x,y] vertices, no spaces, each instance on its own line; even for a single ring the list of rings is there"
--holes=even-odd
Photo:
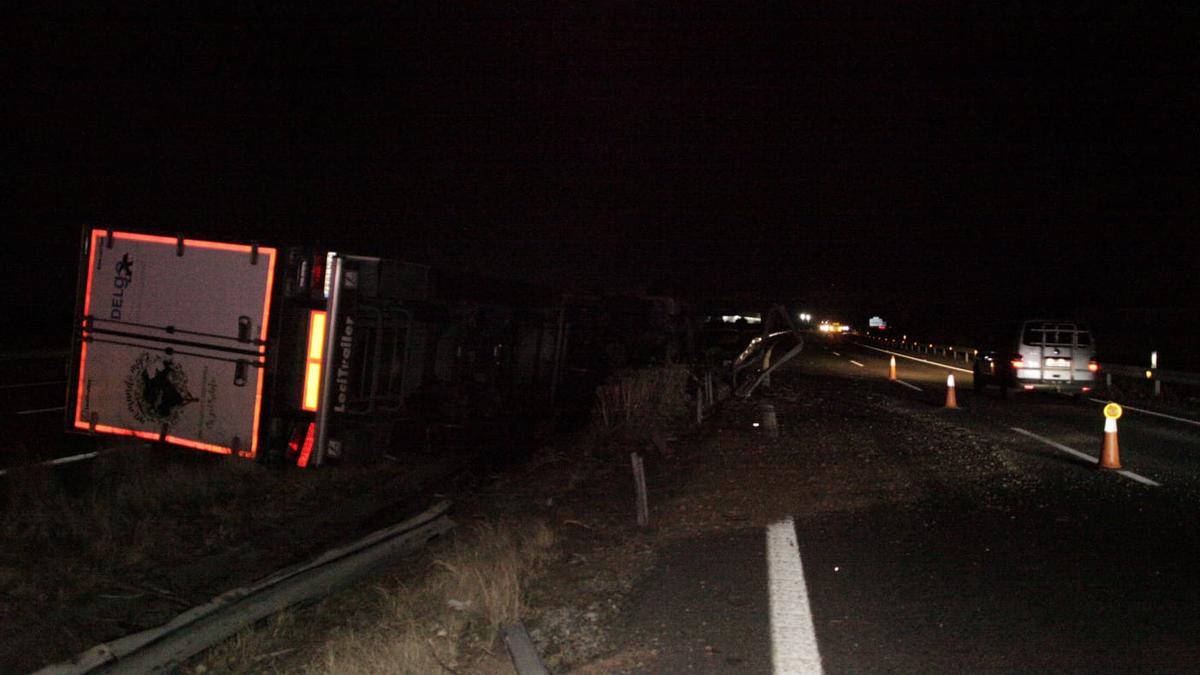
[[[1081,395],[1092,390],[1098,371],[1087,327],[1074,321],[1028,319],[984,338],[974,362],[974,390],[992,384],[1000,387],[1002,396],[1009,389]]]

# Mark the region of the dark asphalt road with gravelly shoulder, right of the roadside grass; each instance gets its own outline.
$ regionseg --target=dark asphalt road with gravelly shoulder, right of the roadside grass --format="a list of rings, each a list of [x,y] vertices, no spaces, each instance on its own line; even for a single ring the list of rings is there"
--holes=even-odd
[[[1194,671],[1200,426],[1123,417],[1138,480],[1055,446],[1098,456],[1099,404],[974,395],[956,372],[944,410],[947,372],[901,362],[916,390],[887,380],[884,354],[810,344],[764,393],[781,438],[756,440],[756,401],[730,402],[710,430],[726,452],[696,470],[715,491],[688,509],[756,508],[760,524],[661,551],[624,629],[655,656],[631,671],[811,671],[780,668],[762,520],[781,515],[804,579],[803,611],[781,621],[811,626],[826,673]]]

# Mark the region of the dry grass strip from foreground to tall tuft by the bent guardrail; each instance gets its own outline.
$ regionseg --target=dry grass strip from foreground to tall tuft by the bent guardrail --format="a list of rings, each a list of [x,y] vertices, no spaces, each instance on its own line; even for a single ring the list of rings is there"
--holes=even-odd
[[[544,449],[527,478],[494,486],[503,495],[485,506],[527,504],[516,491],[529,490],[528,483],[570,492],[606,471],[605,458],[628,450],[632,438],[644,444],[649,432],[685,423],[689,377],[682,365],[613,376],[598,388],[590,428],[569,447],[558,442]],[[520,510],[497,515],[491,508],[479,518],[370,590],[281,614],[202,655],[188,670],[511,673],[500,627],[538,613],[529,605],[530,590],[546,581],[551,565],[563,562],[559,531],[583,524],[530,520]]]

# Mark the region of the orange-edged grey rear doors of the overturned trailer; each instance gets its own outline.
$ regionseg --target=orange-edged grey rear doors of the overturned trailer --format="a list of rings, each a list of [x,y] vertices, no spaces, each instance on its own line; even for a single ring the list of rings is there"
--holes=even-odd
[[[275,249],[84,237],[70,425],[258,452]]]

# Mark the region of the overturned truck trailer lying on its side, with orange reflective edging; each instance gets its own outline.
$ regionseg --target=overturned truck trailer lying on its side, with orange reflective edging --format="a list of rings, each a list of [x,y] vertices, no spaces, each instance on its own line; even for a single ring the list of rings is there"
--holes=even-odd
[[[425,265],[86,228],[67,428],[296,465],[538,414],[562,313]]]

